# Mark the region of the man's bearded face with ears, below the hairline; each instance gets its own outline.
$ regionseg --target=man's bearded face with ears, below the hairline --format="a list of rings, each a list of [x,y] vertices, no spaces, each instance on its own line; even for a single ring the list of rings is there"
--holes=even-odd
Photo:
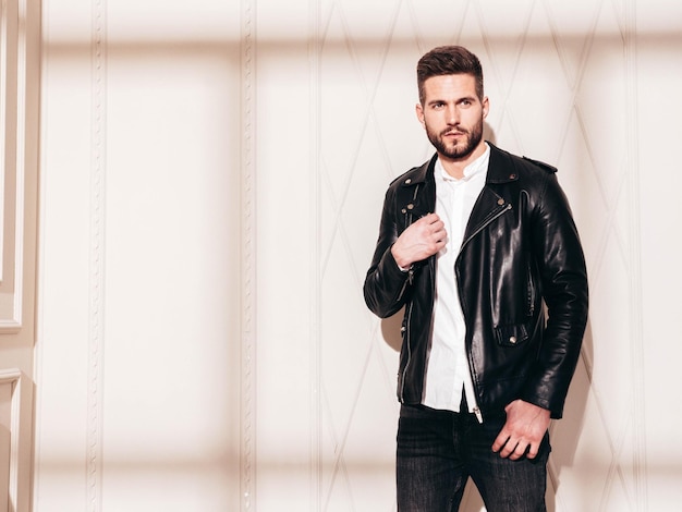
[[[424,105],[417,117],[438,154],[466,161],[480,146],[488,98],[476,95],[476,80],[468,74],[431,76],[424,82]]]

